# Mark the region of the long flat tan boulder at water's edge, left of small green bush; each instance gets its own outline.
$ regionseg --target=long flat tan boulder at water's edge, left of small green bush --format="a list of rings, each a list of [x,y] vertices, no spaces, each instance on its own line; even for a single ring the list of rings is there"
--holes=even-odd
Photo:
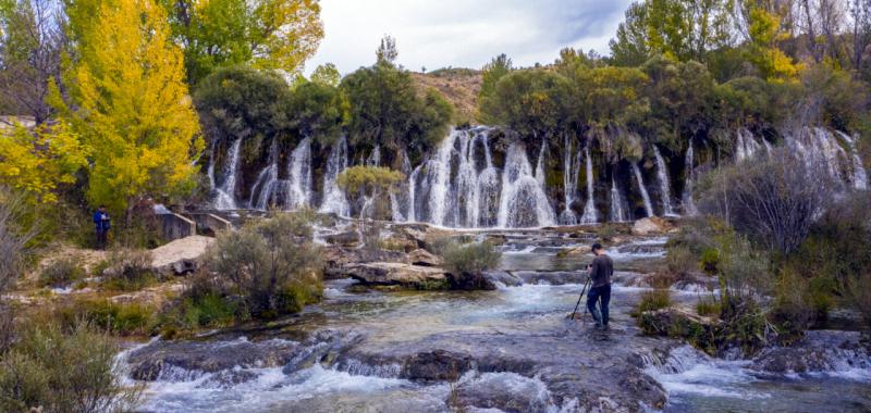
[[[364,285],[402,286],[419,290],[450,288],[447,273],[432,266],[372,262],[348,264],[342,271]]]

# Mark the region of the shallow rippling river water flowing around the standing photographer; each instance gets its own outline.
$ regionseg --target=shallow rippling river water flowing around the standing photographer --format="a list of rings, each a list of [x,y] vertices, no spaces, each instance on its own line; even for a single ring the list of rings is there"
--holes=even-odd
[[[384,292],[331,280],[323,302],[297,316],[198,340],[154,340],[120,361],[131,381],[146,386],[143,412],[871,410],[871,362],[849,351],[836,353],[844,360],[829,371],[772,374],[641,336],[629,313],[665,238],[610,251],[617,283],[613,327],[603,335],[589,315],[566,320],[590,256],[557,252],[590,240],[504,236],[501,270],[520,280],[511,286]],[[710,292],[700,285],[672,291],[687,304],[702,293]]]

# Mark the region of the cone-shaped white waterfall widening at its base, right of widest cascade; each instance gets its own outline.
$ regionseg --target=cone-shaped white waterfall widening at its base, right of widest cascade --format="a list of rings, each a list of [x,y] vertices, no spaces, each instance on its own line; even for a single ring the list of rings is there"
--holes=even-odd
[[[526,148],[520,142],[512,142],[505,154],[498,216],[500,227],[548,226],[555,222],[544,188],[532,175]]]

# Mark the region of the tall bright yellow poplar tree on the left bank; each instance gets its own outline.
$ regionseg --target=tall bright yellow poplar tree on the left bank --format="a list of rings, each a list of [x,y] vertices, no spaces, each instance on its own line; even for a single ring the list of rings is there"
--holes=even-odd
[[[68,7],[76,54],[64,76],[70,102],[52,93],[91,150],[87,197],[126,211],[196,186],[203,138],[182,50],[154,0],[76,0]]]

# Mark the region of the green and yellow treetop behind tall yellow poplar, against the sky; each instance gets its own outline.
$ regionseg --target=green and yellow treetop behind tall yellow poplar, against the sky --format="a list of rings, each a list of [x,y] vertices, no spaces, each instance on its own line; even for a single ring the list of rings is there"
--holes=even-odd
[[[191,85],[237,64],[296,73],[323,37],[317,0],[160,1],[184,49]]]

